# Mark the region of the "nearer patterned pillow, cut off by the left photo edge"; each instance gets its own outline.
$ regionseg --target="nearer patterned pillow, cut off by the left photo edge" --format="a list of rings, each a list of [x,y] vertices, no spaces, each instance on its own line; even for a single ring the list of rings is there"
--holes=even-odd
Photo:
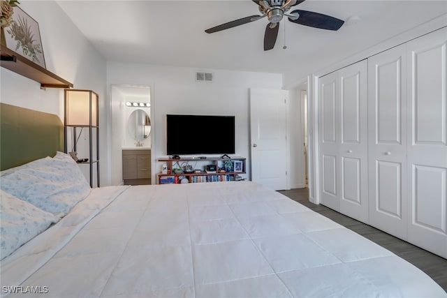
[[[0,260],[46,230],[59,218],[0,190]]]

